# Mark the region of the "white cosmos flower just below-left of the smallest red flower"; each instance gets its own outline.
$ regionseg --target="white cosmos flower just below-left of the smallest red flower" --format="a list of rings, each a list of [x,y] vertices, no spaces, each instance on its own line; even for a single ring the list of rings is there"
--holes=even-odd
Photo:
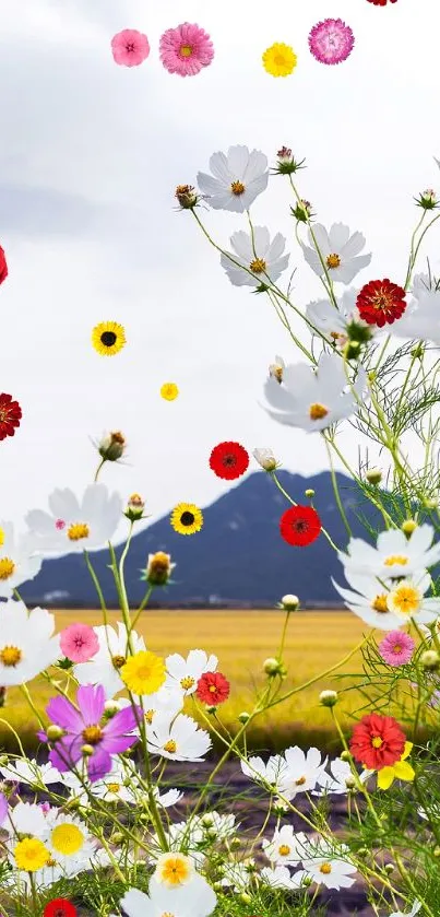
[[[209,733],[186,714],[179,714],[171,722],[158,719],[147,730],[147,742],[148,751],[170,761],[203,761],[212,745]]]

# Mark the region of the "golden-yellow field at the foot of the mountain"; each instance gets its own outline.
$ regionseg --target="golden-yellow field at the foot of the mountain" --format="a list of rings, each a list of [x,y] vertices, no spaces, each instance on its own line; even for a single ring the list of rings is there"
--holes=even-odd
[[[58,611],[56,619],[58,631],[78,620],[91,625],[102,623],[99,611]],[[115,623],[120,620],[120,612],[110,612],[109,619]],[[264,683],[263,660],[277,653],[283,621],[282,611],[145,611],[136,631],[143,634],[147,648],[160,655],[186,655],[192,648],[201,648],[218,657],[218,670],[231,683],[229,701],[219,710],[219,716],[236,731],[238,714],[252,708],[255,687]],[[368,627],[349,612],[292,614],[284,655],[288,675],[283,693],[334,666],[366,633]],[[356,655],[340,671],[359,672],[360,657]],[[323,689],[337,686],[334,679],[323,679],[261,716],[250,732],[250,745],[276,749],[286,742],[313,741],[328,745],[329,750],[333,743],[336,748],[331,714],[319,705],[318,697]],[[51,690],[41,679],[35,680],[29,689],[37,708],[43,712]],[[344,695],[338,706],[341,718],[347,722],[347,715],[357,706],[359,697],[355,692]],[[187,702],[188,713],[191,708]],[[26,746],[33,743],[37,721],[19,689],[8,692],[7,705],[0,709],[0,716],[14,727]],[[16,750],[10,731],[1,722],[0,743]]]

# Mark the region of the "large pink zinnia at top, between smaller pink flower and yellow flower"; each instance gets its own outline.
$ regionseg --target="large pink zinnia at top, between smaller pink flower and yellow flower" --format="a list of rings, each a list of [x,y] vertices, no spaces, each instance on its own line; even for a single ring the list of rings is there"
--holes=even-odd
[[[177,28],[167,28],[159,44],[160,60],[168,73],[194,77],[207,67],[214,57],[214,46],[203,28],[183,22]]]

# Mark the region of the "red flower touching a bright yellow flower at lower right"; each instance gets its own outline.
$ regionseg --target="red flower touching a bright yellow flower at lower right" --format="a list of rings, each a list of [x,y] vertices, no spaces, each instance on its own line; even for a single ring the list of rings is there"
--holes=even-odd
[[[405,742],[406,736],[394,717],[369,714],[355,726],[349,750],[364,767],[381,771],[401,760]]]

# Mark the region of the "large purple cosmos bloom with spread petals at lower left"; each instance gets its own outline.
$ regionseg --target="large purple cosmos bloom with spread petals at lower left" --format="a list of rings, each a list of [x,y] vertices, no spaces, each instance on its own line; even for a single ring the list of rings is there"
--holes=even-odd
[[[53,697],[47,705],[49,719],[66,732],[49,754],[50,763],[61,773],[70,771],[82,759],[83,745],[90,745],[93,754],[87,756],[87,773],[93,784],[111,771],[112,754],[127,751],[138,741],[136,736],[128,733],[139,727],[141,708],[124,707],[100,726],[105,701],[102,684],[86,684],[76,693],[79,710],[66,697]]]

